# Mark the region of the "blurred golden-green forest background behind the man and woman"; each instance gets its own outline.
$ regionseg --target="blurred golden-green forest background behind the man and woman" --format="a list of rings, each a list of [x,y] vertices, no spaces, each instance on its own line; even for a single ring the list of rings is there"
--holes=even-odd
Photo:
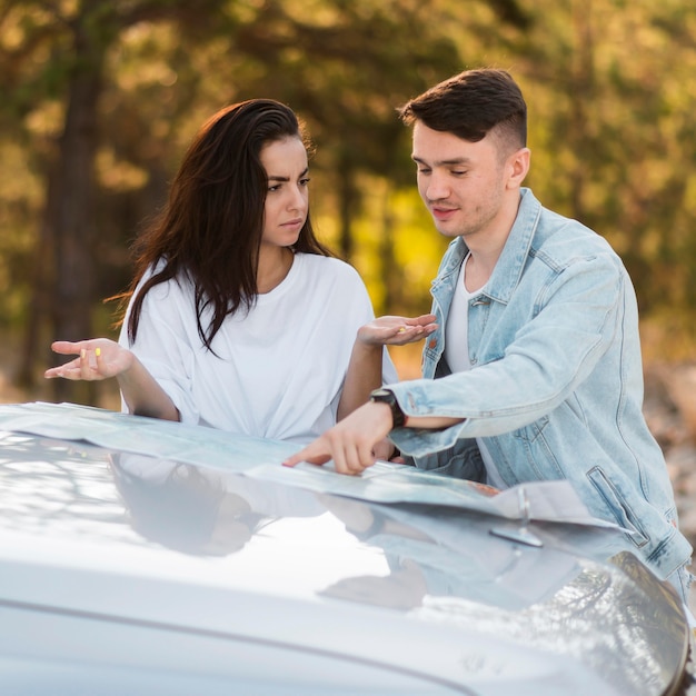
[[[44,380],[50,341],[115,336],[140,225],[203,120],[251,97],[306,121],[319,235],[376,311],[427,311],[446,240],[396,108],[481,66],[527,98],[527,183],[623,257],[646,364],[694,362],[693,0],[0,0],[3,400],[113,399]]]

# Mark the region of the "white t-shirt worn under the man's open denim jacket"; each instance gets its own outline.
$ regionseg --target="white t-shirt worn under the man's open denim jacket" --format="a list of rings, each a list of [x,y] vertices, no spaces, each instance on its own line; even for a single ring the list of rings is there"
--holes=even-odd
[[[469,360],[469,300],[475,295],[479,295],[483,289],[479,288],[476,292],[469,292],[466,288],[468,258],[469,255],[467,253],[461,262],[457,287],[451,298],[451,306],[445,326],[445,359],[453,372],[464,372],[471,369],[471,361]],[[486,466],[488,483],[496,488],[507,488],[488,447],[486,447],[486,443],[480,437],[477,437],[476,444]]]

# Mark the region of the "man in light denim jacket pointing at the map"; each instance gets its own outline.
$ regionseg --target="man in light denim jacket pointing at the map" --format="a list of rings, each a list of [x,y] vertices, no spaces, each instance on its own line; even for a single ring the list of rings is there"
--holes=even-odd
[[[526,113],[515,81],[493,69],[401,109],[418,190],[453,238],[432,286],[439,328],[424,379],[377,390],[285,464],[332,458],[359,474],[389,435],[420,468],[499,488],[567,479],[686,599],[692,548],[642,412],[634,289],[605,239],[521,187]]]

